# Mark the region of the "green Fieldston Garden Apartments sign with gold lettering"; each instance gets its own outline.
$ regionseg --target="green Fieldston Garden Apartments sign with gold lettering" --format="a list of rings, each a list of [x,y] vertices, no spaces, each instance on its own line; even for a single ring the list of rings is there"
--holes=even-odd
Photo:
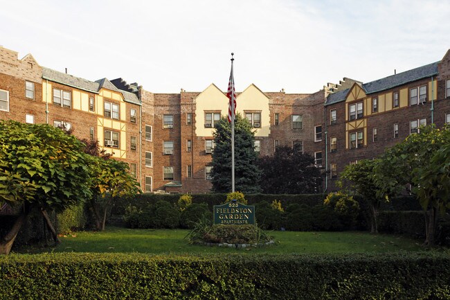
[[[244,225],[255,224],[255,206],[231,200],[214,206],[214,224]]]

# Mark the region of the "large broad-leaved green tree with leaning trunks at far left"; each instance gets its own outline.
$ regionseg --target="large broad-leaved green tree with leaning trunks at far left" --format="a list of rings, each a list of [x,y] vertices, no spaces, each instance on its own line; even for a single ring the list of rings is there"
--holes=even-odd
[[[0,122],[0,201],[20,207],[19,217],[0,240],[8,254],[32,209],[40,209],[57,240],[46,210],[63,211],[91,196],[87,155],[74,136],[46,124]]]

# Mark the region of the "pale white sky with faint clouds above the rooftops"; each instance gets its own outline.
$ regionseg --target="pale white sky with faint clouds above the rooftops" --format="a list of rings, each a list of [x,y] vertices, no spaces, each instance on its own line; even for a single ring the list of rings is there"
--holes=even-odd
[[[0,0],[0,45],[51,69],[147,91],[310,93],[441,60],[449,0]]]

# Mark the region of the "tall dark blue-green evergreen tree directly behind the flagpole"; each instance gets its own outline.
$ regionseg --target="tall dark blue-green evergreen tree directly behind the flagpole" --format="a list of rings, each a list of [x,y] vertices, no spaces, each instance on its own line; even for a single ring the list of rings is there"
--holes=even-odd
[[[255,132],[249,121],[240,114],[235,119],[235,191],[260,192],[260,170],[256,166],[258,153],[254,148]],[[227,118],[215,123],[213,152],[213,191],[231,191],[231,124]]]

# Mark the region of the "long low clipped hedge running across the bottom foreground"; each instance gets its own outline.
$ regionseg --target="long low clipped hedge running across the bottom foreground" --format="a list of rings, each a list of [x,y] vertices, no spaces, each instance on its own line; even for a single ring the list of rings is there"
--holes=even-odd
[[[439,253],[0,257],[8,299],[449,299]]]

